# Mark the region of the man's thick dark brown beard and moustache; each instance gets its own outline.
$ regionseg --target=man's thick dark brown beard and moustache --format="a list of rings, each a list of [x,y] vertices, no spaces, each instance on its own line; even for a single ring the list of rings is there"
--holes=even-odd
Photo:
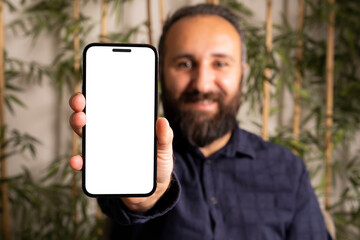
[[[225,103],[223,92],[201,93],[190,90],[184,91],[179,99],[174,99],[165,88],[162,100],[165,117],[175,135],[180,134],[193,146],[205,147],[236,126],[236,115],[241,105],[241,85],[228,103]],[[217,112],[208,113],[187,107],[188,103],[198,101],[217,103]]]

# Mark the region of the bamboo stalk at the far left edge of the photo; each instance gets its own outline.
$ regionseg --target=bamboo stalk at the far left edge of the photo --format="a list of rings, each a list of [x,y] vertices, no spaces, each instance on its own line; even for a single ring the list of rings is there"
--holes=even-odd
[[[5,128],[5,69],[4,69],[4,11],[3,1],[0,1],[0,130]],[[5,134],[0,139],[0,145],[4,146],[6,142]],[[0,156],[6,155],[6,148],[1,147]],[[6,179],[7,176],[7,159],[3,157],[1,160],[1,179]],[[1,218],[1,232],[5,240],[11,239],[11,223],[10,223],[10,205],[9,205],[9,186],[6,181],[1,184],[2,197],[2,218]]]

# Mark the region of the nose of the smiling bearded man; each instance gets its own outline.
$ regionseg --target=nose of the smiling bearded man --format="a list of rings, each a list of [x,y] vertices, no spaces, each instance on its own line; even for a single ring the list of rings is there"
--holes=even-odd
[[[207,93],[214,88],[215,74],[205,63],[200,63],[193,69],[191,78],[192,89]]]

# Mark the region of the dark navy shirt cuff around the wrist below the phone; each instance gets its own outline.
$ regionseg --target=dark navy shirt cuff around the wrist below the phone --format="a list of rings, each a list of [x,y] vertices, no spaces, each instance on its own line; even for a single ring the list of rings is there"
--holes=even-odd
[[[145,223],[153,218],[160,217],[175,207],[180,197],[181,187],[175,173],[169,189],[159,199],[153,208],[145,213],[130,211],[119,197],[98,197],[98,203],[109,218],[121,225]]]

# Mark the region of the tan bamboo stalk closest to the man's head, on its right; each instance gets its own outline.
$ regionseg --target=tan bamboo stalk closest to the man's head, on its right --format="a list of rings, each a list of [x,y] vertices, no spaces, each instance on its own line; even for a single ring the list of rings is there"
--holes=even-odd
[[[266,13],[266,59],[270,62],[270,54],[272,49],[272,0],[267,0],[267,13]],[[271,71],[269,68],[264,70],[264,99],[263,99],[263,111],[262,111],[262,131],[261,136],[264,140],[269,139],[269,116],[270,116],[270,82]]]

